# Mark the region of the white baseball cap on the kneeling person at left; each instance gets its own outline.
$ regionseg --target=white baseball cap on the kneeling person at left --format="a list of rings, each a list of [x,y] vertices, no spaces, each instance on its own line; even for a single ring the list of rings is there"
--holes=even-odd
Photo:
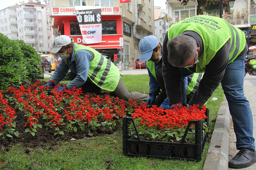
[[[71,43],[71,38],[67,35],[57,36],[53,41],[53,49],[51,50],[51,54],[56,54],[61,50],[61,47],[68,45]]]

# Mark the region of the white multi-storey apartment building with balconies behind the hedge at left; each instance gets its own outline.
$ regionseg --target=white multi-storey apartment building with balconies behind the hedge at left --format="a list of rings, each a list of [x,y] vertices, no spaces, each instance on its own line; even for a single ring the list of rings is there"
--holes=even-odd
[[[0,28],[12,40],[23,40],[37,52],[50,52],[47,11],[40,1],[21,2],[0,10]]]

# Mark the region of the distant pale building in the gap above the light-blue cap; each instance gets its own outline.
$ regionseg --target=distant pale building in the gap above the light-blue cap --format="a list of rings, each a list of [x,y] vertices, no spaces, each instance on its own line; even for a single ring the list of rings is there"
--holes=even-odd
[[[168,30],[168,21],[164,19],[166,17],[165,9],[162,7],[154,7],[154,35],[157,37],[158,42],[163,43],[166,31]]]

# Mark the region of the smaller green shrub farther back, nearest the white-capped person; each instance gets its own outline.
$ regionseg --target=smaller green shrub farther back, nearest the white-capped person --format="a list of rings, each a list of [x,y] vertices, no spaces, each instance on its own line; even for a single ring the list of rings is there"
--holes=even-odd
[[[42,67],[40,66],[42,58],[31,45],[27,45],[23,40],[19,40],[18,43],[22,53],[24,54],[24,67],[26,67],[26,70],[29,72],[27,80],[38,80],[38,77],[42,74]]]

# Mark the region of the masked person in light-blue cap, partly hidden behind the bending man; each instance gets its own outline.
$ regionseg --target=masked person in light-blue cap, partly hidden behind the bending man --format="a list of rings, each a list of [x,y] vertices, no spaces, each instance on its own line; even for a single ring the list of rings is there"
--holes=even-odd
[[[147,71],[149,74],[149,86],[150,86],[150,97],[147,99],[147,105],[158,105],[164,109],[170,108],[168,104],[168,98],[166,94],[166,89],[163,81],[162,74],[162,45],[157,41],[157,37],[153,35],[145,36],[139,42],[140,61],[146,61]],[[193,77],[194,76],[194,77]],[[195,78],[195,76],[197,76]],[[192,78],[193,77],[193,78]],[[184,92],[184,102],[186,105],[186,98],[191,98],[193,93],[198,87],[198,84],[202,78],[202,73],[190,75],[190,77],[184,78],[184,86],[187,89]],[[189,83],[188,83],[189,79]],[[195,81],[195,82],[194,82]],[[189,84],[189,88],[188,87]],[[161,90],[160,90],[161,89]],[[166,102],[164,103],[164,100]]]

